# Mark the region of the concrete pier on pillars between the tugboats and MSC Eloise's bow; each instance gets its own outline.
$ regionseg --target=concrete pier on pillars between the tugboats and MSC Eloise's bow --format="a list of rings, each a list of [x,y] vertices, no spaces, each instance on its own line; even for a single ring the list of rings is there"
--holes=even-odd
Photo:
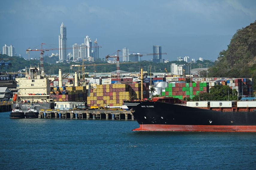
[[[123,110],[40,110],[38,118],[134,120],[130,111]]]

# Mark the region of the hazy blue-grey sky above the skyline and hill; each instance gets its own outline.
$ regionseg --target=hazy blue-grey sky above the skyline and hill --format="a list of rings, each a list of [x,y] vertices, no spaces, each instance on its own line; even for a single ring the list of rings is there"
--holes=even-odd
[[[58,44],[63,22],[68,46],[83,43],[89,35],[102,46],[101,58],[123,47],[130,53],[152,53],[153,45],[161,45],[162,52],[168,53],[165,59],[188,55],[214,61],[237,29],[256,20],[255,9],[255,0],[8,0],[0,6],[0,46],[12,44],[27,58],[28,47]],[[31,52],[31,57],[39,55]]]

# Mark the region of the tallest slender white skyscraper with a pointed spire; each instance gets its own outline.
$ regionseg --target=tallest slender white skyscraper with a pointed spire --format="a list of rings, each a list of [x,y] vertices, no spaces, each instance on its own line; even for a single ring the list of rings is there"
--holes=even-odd
[[[67,61],[67,29],[64,26],[63,22],[60,26],[60,35],[59,35],[59,60]]]

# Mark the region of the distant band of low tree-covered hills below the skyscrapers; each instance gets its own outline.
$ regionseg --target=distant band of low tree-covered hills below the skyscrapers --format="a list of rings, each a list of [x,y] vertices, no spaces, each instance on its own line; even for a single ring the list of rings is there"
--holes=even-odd
[[[38,64],[40,64],[40,60],[39,59],[33,59],[33,60],[25,60],[24,58],[19,58],[16,56],[13,57],[9,57],[7,55],[0,55],[0,60],[2,60],[2,58],[11,58],[11,63],[12,63],[12,67],[10,67],[8,70],[5,69],[0,69],[0,71],[7,71],[7,72],[17,72],[20,69],[25,69],[25,67],[30,67],[30,65],[34,66],[38,66]],[[61,68],[63,72],[75,72],[78,70],[78,67],[73,67],[72,70],[70,70],[70,65],[72,64],[80,64],[82,65],[82,62],[59,62],[56,63],[56,61],[58,61],[58,58],[56,56],[52,56],[52,57],[48,57],[48,56],[44,56],[44,68],[46,71],[46,74],[53,74],[53,68],[54,68],[54,74],[58,74],[58,69]],[[198,64],[202,64],[203,67],[206,67],[205,63],[210,63],[208,64],[209,66],[212,66],[214,64],[214,62],[211,62],[209,60],[205,60],[204,62],[202,61],[197,61],[195,64],[192,64],[192,69],[193,68],[199,68]],[[95,62],[84,62],[84,64],[104,64],[107,63],[106,61],[104,61],[103,59],[97,59]],[[151,72],[165,72],[164,68],[167,69],[168,72],[170,72],[170,65],[172,63],[176,63],[176,64],[187,64],[185,61],[170,61],[168,63],[153,63],[150,61],[140,61],[138,63],[133,63],[133,64],[120,64],[120,70],[122,71],[126,71],[126,72],[139,72],[139,67],[143,66],[144,71],[149,71],[150,72],[150,67],[149,65],[151,64]],[[81,67],[80,67],[81,70]],[[96,66],[96,72],[113,72],[116,71],[116,64],[109,64],[109,65],[103,65],[103,66]],[[88,66],[85,69],[85,72],[94,72],[94,67],[93,66]]]

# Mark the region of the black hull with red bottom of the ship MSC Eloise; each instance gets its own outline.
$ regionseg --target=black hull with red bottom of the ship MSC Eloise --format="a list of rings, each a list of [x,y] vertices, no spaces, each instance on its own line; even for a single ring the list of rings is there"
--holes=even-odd
[[[164,101],[124,101],[140,127],[133,131],[256,132],[256,109],[214,111]]]

